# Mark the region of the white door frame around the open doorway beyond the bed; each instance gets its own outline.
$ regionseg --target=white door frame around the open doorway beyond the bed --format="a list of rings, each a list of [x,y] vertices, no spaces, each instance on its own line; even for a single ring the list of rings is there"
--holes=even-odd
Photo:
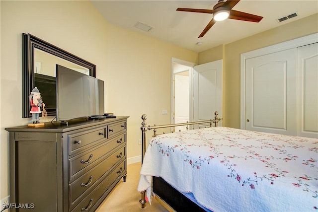
[[[174,75],[174,70],[173,70],[173,63],[177,63],[183,66],[188,66],[191,67],[190,73],[189,73],[189,78],[190,78],[190,93],[191,93],[191,89],[192,89],[192,75],[193,75],[193,67],[196,66],[197,64],[195,63],[191,63],[188,61],[183,61],[177,58],[171,58],[171,117],[170,117],[170,123],[173,124],[173,113],[174,113],[174,101],[173,101],[173,97],[174,97],[174,81],[173,81],[173,75]],[[190,97],[190,102],[191,102],[191,97]],[[189,103],[189,111],[191,112],[191,104]],[[189,116],[189,119],[191,119],[191,117]],[[191,121],[191,120],[190,120]]]

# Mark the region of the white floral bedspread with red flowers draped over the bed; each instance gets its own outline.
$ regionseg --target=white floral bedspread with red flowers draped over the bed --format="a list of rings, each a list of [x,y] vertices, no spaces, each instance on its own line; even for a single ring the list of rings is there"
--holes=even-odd
[[[140,173],[138,191],[160,176],[215,212],[318,212],[318,139],[225,127],[163,134]]]

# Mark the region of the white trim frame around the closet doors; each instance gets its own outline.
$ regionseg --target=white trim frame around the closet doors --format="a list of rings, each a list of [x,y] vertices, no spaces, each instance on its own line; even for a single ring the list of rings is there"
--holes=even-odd
[[[240,129],[245,130],[245,60],[318,42],[318,33],[285,41],[240,55]]]

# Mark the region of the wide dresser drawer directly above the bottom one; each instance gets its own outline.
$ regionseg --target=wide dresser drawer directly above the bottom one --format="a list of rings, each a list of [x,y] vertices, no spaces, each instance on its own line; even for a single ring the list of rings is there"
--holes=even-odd
[[[74,202],[89,188],[93,187],[94,183],[98,181],[100,177],[107,173],[107,171],[116,164],[123,157],[126,157],[126,146],[122,146],[107,158],[101,161],[98,165],[85,173],[79,179],[69,185],[69,196],[71,206]]]

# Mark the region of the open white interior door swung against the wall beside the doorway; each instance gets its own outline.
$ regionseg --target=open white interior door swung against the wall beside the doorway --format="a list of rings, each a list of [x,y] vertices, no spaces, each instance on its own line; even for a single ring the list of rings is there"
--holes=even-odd
[[[192,80],[192,121],[222,118],[222,60],[194,67]],[[218,126],[222,126],[222,120]]]

